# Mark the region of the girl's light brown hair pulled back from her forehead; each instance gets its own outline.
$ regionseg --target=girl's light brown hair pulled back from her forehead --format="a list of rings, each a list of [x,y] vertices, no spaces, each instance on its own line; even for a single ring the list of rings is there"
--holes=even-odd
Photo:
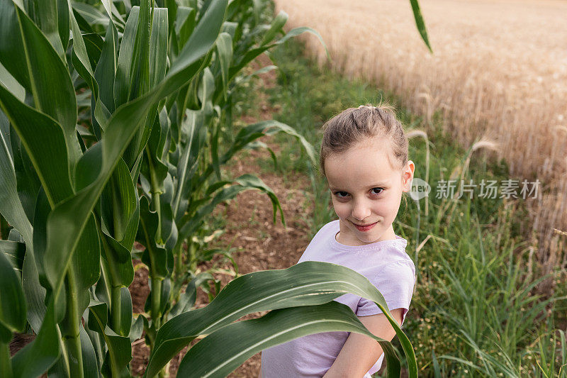
[[[402,123],[395,118],[393,108],[387,104],[346,109],[325,122],[322,130],[319,167],[323,175],[328,156],[374,138],[390,142],[387,155],[393,169],[403,169],[408,163],[408,137]]]

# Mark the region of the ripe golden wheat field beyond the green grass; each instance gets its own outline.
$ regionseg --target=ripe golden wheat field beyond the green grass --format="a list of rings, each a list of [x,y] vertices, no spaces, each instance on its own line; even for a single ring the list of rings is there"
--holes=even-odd
[[[333,69],[393,91],[464,147],[499,145],[512,177],[541,182],[526,200],[546,271],[566,264],[567,1],[420,1],[433,54],[407,0],[276,0],[288,27],[322,35]],[[305,43],[320,64],[314,35]],[[520,199],[520,201],[523,201]],[[566,254],[567,255],[567,254]]]

